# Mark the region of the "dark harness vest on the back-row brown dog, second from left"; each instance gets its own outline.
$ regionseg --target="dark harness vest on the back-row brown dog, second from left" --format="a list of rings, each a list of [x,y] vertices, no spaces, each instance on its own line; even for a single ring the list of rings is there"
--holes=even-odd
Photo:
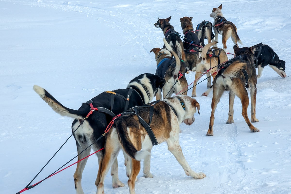
[[[183,46],[185,52],[198,54],[200,40],[193,30],[188,30],[184,33]]]

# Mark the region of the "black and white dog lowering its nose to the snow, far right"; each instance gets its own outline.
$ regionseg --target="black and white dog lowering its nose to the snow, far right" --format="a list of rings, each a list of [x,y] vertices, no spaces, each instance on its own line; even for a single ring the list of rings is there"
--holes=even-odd
[[[278,55],[269,45],[263,45],[262,42],[254,45],[255,47],[255,68],[258,68],[257,78],[262,76],[264,67],[269,65],[281,77],[286,77],[285,61],[280,60]]]

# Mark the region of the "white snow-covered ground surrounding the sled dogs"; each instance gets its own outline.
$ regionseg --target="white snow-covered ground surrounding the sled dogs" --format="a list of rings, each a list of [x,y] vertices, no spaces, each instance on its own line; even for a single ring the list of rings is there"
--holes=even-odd
[[[228,92],[217,106],[214,136],[207,137],[212,94],[200,97],[206,83],[197,86],[201,115],[191,126],[181,124],[180,144],[186,160],[206,178],[185,175],[165,143],[152,150],[154,178],[139,173],[136,193],[291,193],[291,89],[289,1],[61,1],[0,0],[0,193],[17,193],[33,179],[71,134],[72,118],[63,118],[32,90],[37,84],[59,102],[78,109],[100,92],[125,88],[142,73],[155,73],[154,54],[163,33],[154,27],[157,17],[182,33],[180,18],[194,17],[194,26],[209,20],[213,7],[236,24],[244,46],[263,42],[286,61],[286,78],[265,67],[258,79],[256,116],[260,129],[251,133],[239,99],[234,124],[228,118]],[[221,48],[221,35],[219,35]],[[233,43],[227,41],[227,52]],[[228,55],[231,58],[231,55]],[[195,74],[186,75],[188,83]],[[205,77],[204,77],[205,78]],[[191,90],[188,92],[191,95]],[[250,118],[250,105],[248,108]],[[32,184],[47,177],[77,155],[70,140]],[[75,162],[73,160],[71,163]],[[123,155],[118,156],[119,178],[125,187],[113,189],[111,176],[105,193],[128,193]],[[75,165],[24,193],[75,193]],[[95,193],[97,157],[83,172],[85,193]]]

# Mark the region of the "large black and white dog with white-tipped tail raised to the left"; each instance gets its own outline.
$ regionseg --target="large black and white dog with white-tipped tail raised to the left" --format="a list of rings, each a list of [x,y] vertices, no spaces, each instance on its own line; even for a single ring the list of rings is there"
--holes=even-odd
[[[90,146],[92,143],[92,149],[97,151],[104,147],[105,138],[99,138],[112,120],[114,115],[117,115],[128,108],[134,106],[140,106],[151,102],[154,96],[157,94],[158,88],[163,87],[165,80],[154,74],[141,74],[132,79],[127,85],[126,89],[117,89],[113,91],[102,92],[96,97],[92,98],[87,103],[83,103],[78,110],[73,110],[63,106],[52,95],[50,95],[45,89],[40,86],[33,86],[33,90],[40,95],[40,97],[49,104],[50,107],[62,116],[72,117],[75,120],[72,123],[72,132],[77,144],[77,151],[80,154],[84,149]],[[91,103],[91,104],[90,104]],[[90,112],[90,108],[98,108],[97,111],[93,111],[92,114],[86,118]],[[105,111],[102,111],[105,110]],[[86,119],[85,119],[86,118]],[[81,124],[82,123],[82,124]],[[77,127],[80,127],[77,129]],[[75,132],[74,132],[75,131]],[[78,156],[78,161],[90,154],[91,149],[86,149]],[[104,156],[104,149],[97,152],[99,170],[95,185],[98,186],[100,180],[101,163]],[[77,164],[76,172],[74,173],[75,188],[77,194],[84,194],[81,179],[82,172],[85,168],[87,159],[80,161]],[[124,184],[118,179],[118,165],[117,160],[114,161],[111,167],[112,186],[113,188],[122,187]]]

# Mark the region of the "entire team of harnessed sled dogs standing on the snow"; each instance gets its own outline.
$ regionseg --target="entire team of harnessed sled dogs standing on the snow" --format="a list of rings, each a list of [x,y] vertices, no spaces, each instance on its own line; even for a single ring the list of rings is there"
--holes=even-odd
[[[62,116],[74,118],[72,132],[77,144],[78,161],[90,154],[91,148],[97,152],[99,170],[95,185],[97,194],[104,193],[104,179],[111,168],[113,188],[123,187],[118,178],[117,156],[123,150],[128,179],[129,193],[135,193],[135,181],[143,159],[143,176],[150,173],[150,154],[153,145],[166,142],[168,150],[175,156],[186,175],[203,179],[203,172],[194,172],[187,163],[179,145],[180,123],[191,125],[194,113],[200,110],[196,99],[187,96],[187,71],[196,71],[192,97],[196,97],[197,81],[207,74],[207,96],[213,90],[211,116],[207,136],[213,136],[214,112],[225,90],[229,91],[229,112],[226,123],[233,123],[235,95],[242,103],[242,115],[252,132],[258,132],[251,122],[258,122],[255,115],[257,78],[266,65],[281,77],[286,77],[285,61],[268,46],[262,43],[252,47],[237,47],[242,44],[237,28],[227,21],[221,12],[222,5],[213,8],[210,17],[213,24],[203,21],[194,30],[193,17],[180,18],[183,41],[169,23],[171,17],[159,19],[155,27],[161,28],[165,38],[163,48],[153,48],[157,62],[156,74],[145,73],[132,79],[125,89],[105,91],[83,103],[78,110],[63,106],[40,86],[33,86],[35,92]],[[212,29],[214,33],[212,33]],[[222,35],[223,48],[217,47],[218,34]],[[231,37],[235,57],[228,60],[225,53],[226,41]],[[204,39],[207,44],[204,46]],[[204,46],[204,47],[203,47]],[[212,47],[212,48],[211,48]],[[201,54],[200,54],[201,53]],[[173,56],[173,57],[172,57]],[[258,68],[256,75],[255,68]],[[211,84],[213,76],[213,85]],[[251,120],[247,115],[250,89]],[[173,95],[183,94],[183,95]],[[163,94],[163,95],[162,95]],[[155,102],[152,102],[156,96]],[[164,99],[162,99],[162,96]],[[114,120],[114,122],[112,122]],[[106,136],[104,131],[111,124]],[[100,136],[105,136],[97,141]],[[86,149],[91,146],[91,148]],[[83,151],[85,150],[85,151]],[[77,163],[74,183],[77,194],[84,194],[81,186],[82,172],[87,159]]]

